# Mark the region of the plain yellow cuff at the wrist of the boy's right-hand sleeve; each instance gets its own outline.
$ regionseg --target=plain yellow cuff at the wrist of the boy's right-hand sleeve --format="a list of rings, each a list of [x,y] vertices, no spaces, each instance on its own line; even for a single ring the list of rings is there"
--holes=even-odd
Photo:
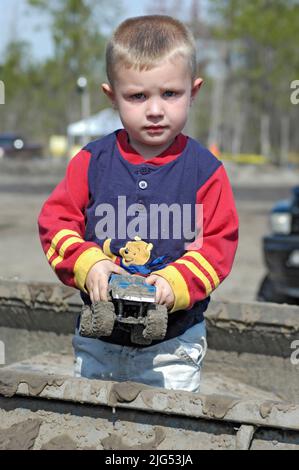
[[[190,304],[190,294],[185,279],[174,266],[166,266],[160,271],[154,271],[152,274],[161,276],[169,282],[174,293],[174,306],[171,312],[185,310]]]

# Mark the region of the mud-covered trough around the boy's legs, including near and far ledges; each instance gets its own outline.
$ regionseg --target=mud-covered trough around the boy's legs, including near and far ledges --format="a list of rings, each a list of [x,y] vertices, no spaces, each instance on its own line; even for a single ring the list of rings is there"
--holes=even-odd
[[[298,307],[213,302],[202,389],[191,394],[75,378],[71,332],[78,298],[65,293],[61,302],[47,285],[15,286],[11,298],[13,286],[3,285],[4,448],[299,448],[299,365],[290,361]],[[32,420],[40,420],[39,428]],[[28,426],[24,441],[22,426]]]

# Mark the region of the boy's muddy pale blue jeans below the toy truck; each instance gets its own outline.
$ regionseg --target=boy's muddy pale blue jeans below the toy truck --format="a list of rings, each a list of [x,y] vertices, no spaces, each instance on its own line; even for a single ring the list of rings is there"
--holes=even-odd
[[[207,350],[205,322],[181,336],[146,348],[106,343],[80,336],[76,331],[73,348],[76,377],[198,392]]]

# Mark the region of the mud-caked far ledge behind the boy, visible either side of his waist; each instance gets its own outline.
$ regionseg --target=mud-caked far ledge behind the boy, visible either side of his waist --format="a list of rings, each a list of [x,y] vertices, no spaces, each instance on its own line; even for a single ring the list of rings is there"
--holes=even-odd
[[[78,292],[63,285],[0,281],[0,327],[73,334],[80,310]],[[211,302],[205,317],[215,350],[289,357],[299,339],[297,306]]]

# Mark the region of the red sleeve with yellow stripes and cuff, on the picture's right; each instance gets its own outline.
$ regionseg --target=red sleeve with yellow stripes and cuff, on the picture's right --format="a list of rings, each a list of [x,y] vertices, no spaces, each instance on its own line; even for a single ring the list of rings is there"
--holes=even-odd
[[[238,215],[222,165],[198,190],[196,203],[202,205],[202,230],[181,258],[155,272],[173,289],[173,312],[209,296],[231,271],[237,249]]]

